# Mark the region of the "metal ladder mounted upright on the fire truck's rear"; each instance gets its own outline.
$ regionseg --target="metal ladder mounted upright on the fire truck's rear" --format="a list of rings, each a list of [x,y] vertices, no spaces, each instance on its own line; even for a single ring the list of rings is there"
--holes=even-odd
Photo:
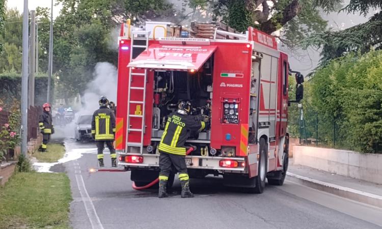
[[[134,39],[135,35],[141,35],[145,36],[145,38],[136,38]],[[150,31],[131,31],[131,48],[130,48],[130,62],[132,61],[132,54],[134,48],[145,48],[148,49],[149,46],[149,38],[150,38]],[[146,42],[145,45],[135,45],[134,40],[143,40]],[[133,81],[133,76],[142,77],[143,76],[143,87],[131,87],[131,82]],[[128,87],[128,94],[127,94],[127,133],[130,133],[131,131],[135,132],[141,132],[141,142],[129,142],[128,138],[126,140],[126,146],[127,147],[139,147],[140,153],[143,154],[143,137],[145,134],[145,100],[146,100],[146,83],[147,83],[147,69],[145,69],[144,73],[137,73],[133,72],[133,69],[130,68],[129,70],[129,78],[130,83]],[[132,101],[130,100],[131,90],[134,94],[137,93],[143,93],[143,101]],[[134,115],[130,114],[130,105],[131,104],[139,104],[142,106],[141,113],[135,113]],[[133,129],[130,127],[130,118],[141,118],[142,119],[142,126],[141,129]],[[128,136],[128,135],[127,135]]]

